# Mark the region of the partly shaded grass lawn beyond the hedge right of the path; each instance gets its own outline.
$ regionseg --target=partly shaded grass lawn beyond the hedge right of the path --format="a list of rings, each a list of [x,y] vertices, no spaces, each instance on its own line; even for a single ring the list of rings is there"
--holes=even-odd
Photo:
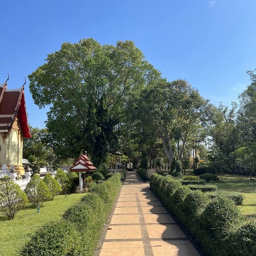
[[[220,182],[214,183],[219,189],[240,192],[244,202],[239,208],[246,219],[256,219],[256,180],[239,175],[220,175]]]

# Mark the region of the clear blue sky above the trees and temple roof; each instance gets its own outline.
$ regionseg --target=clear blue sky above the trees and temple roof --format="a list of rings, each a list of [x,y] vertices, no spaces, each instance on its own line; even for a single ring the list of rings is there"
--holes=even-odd
[[[168,80],[183,78],[212,103],[230,105],[256,68],[256,0],[1,1],[0,84],[8,88],[44,63],[63,42],[133,40]],[[29,122],[46,109],[25,89]]]

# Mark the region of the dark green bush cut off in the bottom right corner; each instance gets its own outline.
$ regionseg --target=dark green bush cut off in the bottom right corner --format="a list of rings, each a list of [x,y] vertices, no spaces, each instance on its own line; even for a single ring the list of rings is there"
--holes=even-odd
[[[256,221],[246,222],[236,230],[230,240],[230,249],[235,256],[255,256]]]

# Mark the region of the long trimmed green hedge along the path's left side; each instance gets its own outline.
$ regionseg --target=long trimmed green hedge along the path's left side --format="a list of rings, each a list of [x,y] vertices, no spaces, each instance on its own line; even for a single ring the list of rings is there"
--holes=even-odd
[[[92,256],[104,222],[112,209],[121,181],[120,173],[91,183],[89,193],[70,207],[58,222],[49,222],[31,237],[20,256]]]

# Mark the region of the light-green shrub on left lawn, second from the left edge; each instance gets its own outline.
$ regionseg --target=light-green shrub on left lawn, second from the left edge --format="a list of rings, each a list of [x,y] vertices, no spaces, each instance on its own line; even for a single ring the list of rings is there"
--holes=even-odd
[[[26,193],[29,202],[35,208],[38,205],[41,206],[45,201],[52,199],[48,186],[41,180],[39,175],[32,176],[24,192]]]

